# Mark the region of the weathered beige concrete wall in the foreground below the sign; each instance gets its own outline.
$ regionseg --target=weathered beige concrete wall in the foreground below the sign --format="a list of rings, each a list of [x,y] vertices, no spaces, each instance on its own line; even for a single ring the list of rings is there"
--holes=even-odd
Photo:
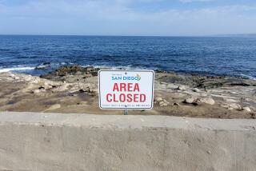
[[[256,121],[0,113],[0,170],[255,170]]]

